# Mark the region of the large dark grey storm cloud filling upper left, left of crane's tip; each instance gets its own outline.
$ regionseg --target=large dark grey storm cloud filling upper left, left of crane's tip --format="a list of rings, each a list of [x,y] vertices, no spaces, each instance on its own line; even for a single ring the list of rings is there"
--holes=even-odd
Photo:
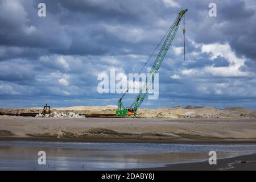
[[[127,36],[126,27],[123,32],[115,32],[119,36],[108,31],[108,27],[151,27],[159,11],[159,7],[146,1],[45,1],[47,18],[39,18],[37,2],[1,2],[0,23],[5,25],[0,31],[2,45],[40,47],[66,55],[119,54],[122,49],[136,50],[137,45],[120,38]]]

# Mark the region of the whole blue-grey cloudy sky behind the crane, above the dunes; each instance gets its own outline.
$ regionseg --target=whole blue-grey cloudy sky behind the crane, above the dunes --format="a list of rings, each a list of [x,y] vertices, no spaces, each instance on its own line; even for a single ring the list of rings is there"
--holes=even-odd
[[[0,0],[0,107],[117,105],[120,94],[97,92],[97,75],[139,72],[182,9],[187,59],[181,24],[159,70],[159,98],[142,107],[256,109],[254,0]]]

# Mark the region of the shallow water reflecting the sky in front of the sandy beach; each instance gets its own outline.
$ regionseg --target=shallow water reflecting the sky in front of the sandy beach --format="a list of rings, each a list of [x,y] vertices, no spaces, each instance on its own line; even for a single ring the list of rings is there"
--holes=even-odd
[[[46,152],[46,165],[38,152]],[[90,143],[0,140],[1,170],[117,170],[254,154],[256,144]]]

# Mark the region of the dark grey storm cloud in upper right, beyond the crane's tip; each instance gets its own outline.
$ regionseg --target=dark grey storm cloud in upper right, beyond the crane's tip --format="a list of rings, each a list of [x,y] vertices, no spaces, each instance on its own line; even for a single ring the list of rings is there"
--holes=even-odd
[[[210,2],[212,1],[204,1],[201,4],[207,6]],[[246,7],[246,1],[214,2],[217,5],[217,17],[215,18],[208,16],[205,6],[199,6],[191,12],[193,23],[188,24],[188,29],[196,30],[194,34],[196,42],[229,42],[237,55],[244,55],[255,60],[255,5]]]

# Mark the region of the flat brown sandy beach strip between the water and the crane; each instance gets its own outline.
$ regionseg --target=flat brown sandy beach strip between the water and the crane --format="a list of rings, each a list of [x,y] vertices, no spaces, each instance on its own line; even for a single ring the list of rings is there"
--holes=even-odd
[[[255,142],[255,131],[255,118],[0,118],[2,138]]]

